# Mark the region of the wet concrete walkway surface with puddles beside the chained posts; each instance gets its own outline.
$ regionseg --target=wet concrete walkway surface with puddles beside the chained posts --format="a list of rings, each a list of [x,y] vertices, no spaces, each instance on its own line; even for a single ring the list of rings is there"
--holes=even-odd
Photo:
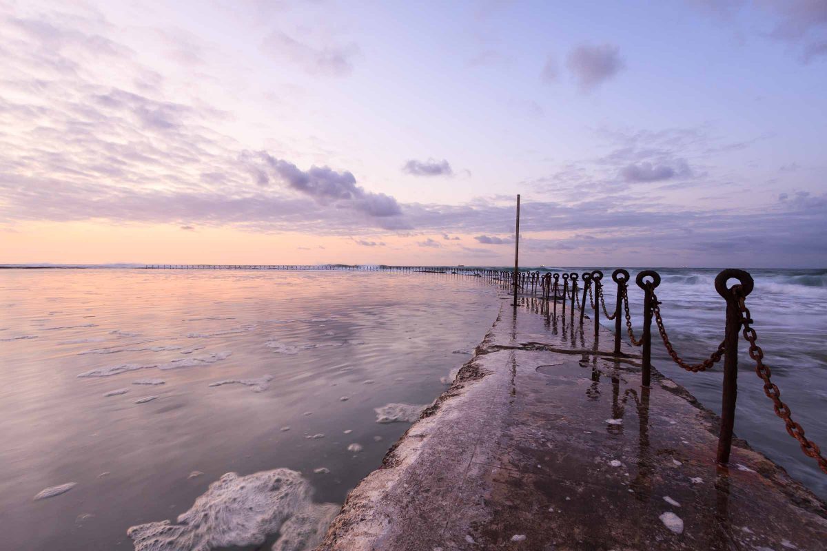
[[[718,417],[637,350],[509,302],[318,549],[827,549],[825,503],[742,440],[718,466]]]

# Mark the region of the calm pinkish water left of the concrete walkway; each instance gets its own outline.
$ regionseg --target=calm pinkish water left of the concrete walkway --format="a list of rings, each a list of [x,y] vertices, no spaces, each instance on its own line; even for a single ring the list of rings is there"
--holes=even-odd
[[[375,408],[433,401],[500,306],[399,273],[3,270],[0,297],[2,549],[131,549],[229,472],[341,504],[409,426]]]

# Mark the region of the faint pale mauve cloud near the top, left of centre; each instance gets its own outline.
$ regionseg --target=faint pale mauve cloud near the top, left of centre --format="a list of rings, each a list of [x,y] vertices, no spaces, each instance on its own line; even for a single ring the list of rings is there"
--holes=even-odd
[[[353,59],[361,50],[355,43],[314,48],[281,31],[271,32],[261,44],[270,57],[288,60],[304,68],[308,74],[344,77],[353,72]]]

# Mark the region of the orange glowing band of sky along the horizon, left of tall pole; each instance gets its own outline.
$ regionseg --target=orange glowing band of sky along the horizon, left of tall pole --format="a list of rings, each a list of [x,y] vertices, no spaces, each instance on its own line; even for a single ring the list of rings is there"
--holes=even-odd
[[[470,235],[373,237],[262,233],[230,226],[183,230],[172,225],[114,226],[91,222],[36,222],[2,232],[0,264],[498,264],[513,248],[491,254],[462,246]],[[431,245],[422,245],[431,240]],[[375,243],[361,245],[359,241]],[[435,242],[435,243],[434,243]],[[384,244],[384,245],[380,245]]]

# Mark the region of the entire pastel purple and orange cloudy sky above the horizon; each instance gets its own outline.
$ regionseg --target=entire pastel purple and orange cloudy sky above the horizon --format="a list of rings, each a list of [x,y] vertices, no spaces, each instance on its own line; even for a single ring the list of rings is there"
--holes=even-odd
[[[827,267],[827,0],[0,0],[0,264]]]

